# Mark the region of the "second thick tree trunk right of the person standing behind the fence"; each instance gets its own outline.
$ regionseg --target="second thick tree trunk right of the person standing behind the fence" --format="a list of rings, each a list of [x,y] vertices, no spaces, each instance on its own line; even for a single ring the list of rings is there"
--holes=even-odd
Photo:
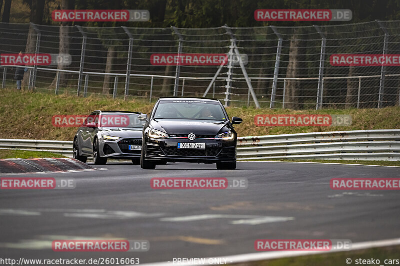
[[[61,6],[59,9],[74,9],[75,0],[61,0]],[[58,53],[69,54],[69,31],[70,31],[71,22],[62,21],[59,27],[59,44],[58,44]],[[66,68],[65,65],[60,64],[57,65],[57,70],[64,70]],[[67,73],[59,71],[59,84],[65,87],[68,83]],[[57,75],[55,75],[53,81],[51,82],[50,87],[55,87],[57,83]]]

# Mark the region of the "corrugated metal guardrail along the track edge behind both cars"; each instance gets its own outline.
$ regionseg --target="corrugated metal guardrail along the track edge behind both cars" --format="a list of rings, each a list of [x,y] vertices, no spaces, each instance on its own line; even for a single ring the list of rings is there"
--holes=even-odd
[[[0,139],[0,149],[48,151],[72,157],[72,141]],[[238,137],[237,159],[400,161],[400,129]]]

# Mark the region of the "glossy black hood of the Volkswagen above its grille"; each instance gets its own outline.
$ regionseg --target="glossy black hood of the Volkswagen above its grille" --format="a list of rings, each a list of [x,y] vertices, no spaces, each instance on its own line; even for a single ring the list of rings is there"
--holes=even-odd
[[[156,119],[151,120],[151,126],[168,134],[216,135],[230,130],[227,121]]]

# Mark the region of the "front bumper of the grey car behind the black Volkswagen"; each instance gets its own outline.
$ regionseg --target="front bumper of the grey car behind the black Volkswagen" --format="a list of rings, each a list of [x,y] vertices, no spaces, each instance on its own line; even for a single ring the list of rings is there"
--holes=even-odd
[[[99,141],[100,157],[112,159],[140,159],[141,150],[129,150],[129,145],[141,147],[141,139],[120,138],[115,141]]]

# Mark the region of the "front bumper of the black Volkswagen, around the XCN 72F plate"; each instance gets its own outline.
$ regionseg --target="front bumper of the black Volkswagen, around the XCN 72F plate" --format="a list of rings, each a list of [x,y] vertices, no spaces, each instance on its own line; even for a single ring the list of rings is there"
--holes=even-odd
[[[178,149],[178,142],[205,143],[205,149]],[[145,145],[145,159],[168,162],[215,163],[236,161],[236,140],[169,138],[148,139]]]

